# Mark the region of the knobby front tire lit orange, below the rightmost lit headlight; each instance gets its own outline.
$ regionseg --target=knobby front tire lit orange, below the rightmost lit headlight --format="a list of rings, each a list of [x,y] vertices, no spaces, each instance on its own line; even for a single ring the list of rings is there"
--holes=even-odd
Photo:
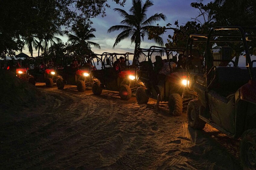
[[[169,96],[169,113],[172,116],[180,116],[182,113],[182,98],[180,94],[173,93]]]

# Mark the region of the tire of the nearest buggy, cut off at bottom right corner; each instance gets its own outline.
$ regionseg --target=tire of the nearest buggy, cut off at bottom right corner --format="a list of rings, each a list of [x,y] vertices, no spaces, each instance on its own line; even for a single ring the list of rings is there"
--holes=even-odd
[[[255,159],[256,129],[249,129],[242,134],[239,155],[243,169],[256,169]]]

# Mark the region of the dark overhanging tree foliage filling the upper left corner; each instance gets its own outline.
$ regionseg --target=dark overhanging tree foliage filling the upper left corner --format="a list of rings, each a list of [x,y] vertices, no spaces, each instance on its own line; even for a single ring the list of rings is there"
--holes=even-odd
[[[112,0],[124,5],[126,0]],[[65,26],[65,33],[77,21],[91,23],[90,18],[105,16],[107,0],[2,0],[0,1],[0,57],[14,55],[33,35],[49,31],[51,23]],[[40,42],[40,39],[39,39]],[[39,48],[41,44],[39,43]]]

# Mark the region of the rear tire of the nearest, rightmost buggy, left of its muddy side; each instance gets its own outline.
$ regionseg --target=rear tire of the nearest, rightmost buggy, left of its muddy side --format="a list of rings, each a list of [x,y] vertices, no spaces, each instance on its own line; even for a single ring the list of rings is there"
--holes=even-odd
[[[199,118],[199,107],[201,102],[199,100],[191,100],[187,107],[188,124],[193,129],[203,129],[206,122]]]

